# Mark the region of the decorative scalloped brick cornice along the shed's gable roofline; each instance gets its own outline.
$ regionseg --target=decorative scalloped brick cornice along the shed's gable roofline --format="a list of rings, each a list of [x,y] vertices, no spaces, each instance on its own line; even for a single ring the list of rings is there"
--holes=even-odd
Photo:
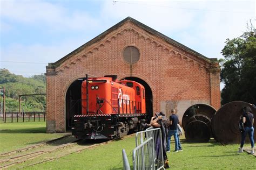
[[[126,25],[120,27],[118,30],[111,32],[109,36],[100,40],[96,44],[92,44],[91,46],[84,49],[84,51],[81,51],[77,53],[75,56],[73,56],[72,58],[70,58],[69,60],[66,60],[64,63],[62,63],[62,65],[54,69],[55,70],[54,73],[50,73],[50,74],[46,73],[46,75],[56,75],[57,73],[64,72],[64,70],[69,69],[70,66],[76,65],[77,62],[81,62],[83,59],[87,58],[93,53],[98,52],[100,48],[102,48],[106,44],[112,43],[112,41],[117,40],[118,36],[126,32],[132,32],[136,34],[138,38],[143,39],[145,41],[149,41],[151,44],[153,44],[157,48],[161,48],[162,51],[166,51],[170,57],[178,57],[181,60],[184,60],[186,62],[192,62],[193,65],[194,64],[198,65],[200,69],[201,68],[210,69],[210,66],[213,63],[211,61],[205,61],[201,58],[198,58],[197,56],[187,53],[184,51],[184,49],[179,49],[170,44],[167,44],[165,41],[159,40],[158,37],[154,37],[153,35],[150,35],[145,31],[138,29],[132,23],[127,23]],[[218,63],[218,62],[215,62],[215,63]],[[54,66],[54,63],[52,63],[51,65]],[[51,68],[50,66],[46,68],[47,68],[47,72],[49,72],[49,70],[53,70],[53,68]]]

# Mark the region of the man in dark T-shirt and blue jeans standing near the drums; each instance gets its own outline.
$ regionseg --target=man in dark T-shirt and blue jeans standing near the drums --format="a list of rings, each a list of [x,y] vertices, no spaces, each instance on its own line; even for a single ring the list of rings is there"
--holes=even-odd
[[[171,143],[171,137],[174,137],[174,141],[175,141],[175,152],[178,152],[178,130],[177,130],[177,125],[178,125],[178,121],[179,118],[176,115],[176,110],[172,109],[171,110],[171,116],[170,116],[170,126],[169,126],[169,131],[168,131],[168,140],[167,140],[167,146],[166,146],[166,151],[170,152],[170,143]]]

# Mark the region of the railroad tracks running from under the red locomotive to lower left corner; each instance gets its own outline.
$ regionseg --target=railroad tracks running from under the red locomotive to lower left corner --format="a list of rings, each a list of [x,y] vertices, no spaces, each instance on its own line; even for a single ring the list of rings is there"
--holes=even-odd
[[[134,134],[130,134],[123,138],[127,138],[127,137],[130,137],[133,135]],[[63,139],[65,139],[65,138],[66,137],[63,137]],[[61,142],[58,142],[58,143],[60,143],[59,145],[55,144],[54,141],[62,140],[62,139],[58,138],[57,140],[46,142],[48,144],[42,143],[42,144],[38,144],[37,147],[34,147],[34,146],[27,147],[27,148],[29,148],[28,150],[25,150],[26,148],[22,148],[19,150],[0,154],[0,156],[2,156],[2,157],[4,156],[3,159],[0,160],[0,169],[9,168],[11,166],[15,166],[15,168],[17,169],[17,168],[24,168],[24,167],[28,167],[28,166],[42,164],[43,162],[52,161],[52,160],[64,157],[66,155],[69,155],[71,153],[81,152],[81,151],[89,149],[89,148],[109,144],[109,143],[115,141],[115,140],[109,140],[109,141],[104,141],[104,142],[100,142],[100,143],[95,143],[95,141],[93,141],[93,142],[92,141],[83,141],[83,140],[75,139],[74,137],[71,137],[71,136],[70,136],[70,138],[73,138],[73,140],[71,140],[70,142],[65,143],[65,144],[61,144]],[[50,144],[50,146],[48,146],[49,144]],[[55,144],[55,145],[52,145],[52,144]],[[33,152],[29,152],[31,150]],[[29,153],[26,153],[26,152],[29,152]],[[17,155],[14,155],[13,157],[10,157],[10,158],[6,158],[10,154],[13,155],[15,153]],[[23,153],[23,154],[21,154],[21,153]]]

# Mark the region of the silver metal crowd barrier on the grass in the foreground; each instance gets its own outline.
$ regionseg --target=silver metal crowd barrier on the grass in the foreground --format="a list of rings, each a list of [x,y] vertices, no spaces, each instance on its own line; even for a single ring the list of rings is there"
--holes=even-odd
[[[132,156],[133,169],[165,169],[161,129],[148,128],[137,132],[135,138],[136,148]],[[124,169],[129,170],[129,162],[127,157],[124,159],[124,153],[123,150]]]

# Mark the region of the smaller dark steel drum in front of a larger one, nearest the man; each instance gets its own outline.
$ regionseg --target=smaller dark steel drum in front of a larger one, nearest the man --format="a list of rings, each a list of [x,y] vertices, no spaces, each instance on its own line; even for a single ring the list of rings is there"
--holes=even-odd
[[[210,126],[203,121],[192,121],[186,125],[185,137],[187,141],[207,142],[211,138]]]

